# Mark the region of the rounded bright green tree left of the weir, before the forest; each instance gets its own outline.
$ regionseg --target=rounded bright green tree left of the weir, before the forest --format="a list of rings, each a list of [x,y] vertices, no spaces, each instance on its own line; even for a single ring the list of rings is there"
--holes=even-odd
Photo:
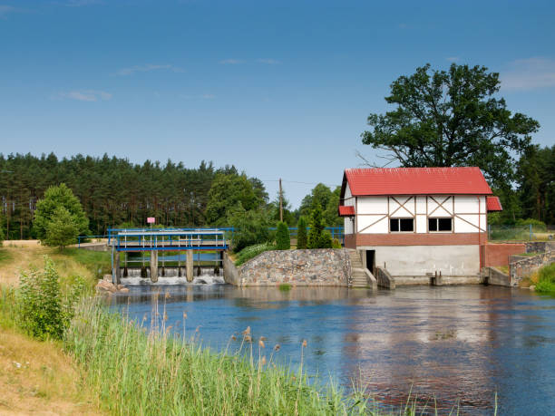
[[[60,208],[67,211],[67,214],[61,211]],[[77,235],[89,232],[89,219],[83,211],[81,202],[73,195],[72,189],[67,188],[65,184],[47,189],[44,192],[44,198],[36,203],[36,210],[34,211],[34,230],[38,239],[47,244],[47,234],[51,222],[58,221],[59,218],[56,219],[56,217],[60,216],[66,219],[68,215],[72,218],[71,222]],[[55,239],[60,240],[59,237],[67,237],[69,231],[72,231],[72,229],[65,228],[62,233],[58,233],[56,236],[58,238]]]

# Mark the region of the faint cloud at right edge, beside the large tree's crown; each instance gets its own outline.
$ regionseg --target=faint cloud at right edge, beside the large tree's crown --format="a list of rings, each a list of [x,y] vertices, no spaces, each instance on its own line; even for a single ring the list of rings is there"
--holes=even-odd
[[[500,77],[503,90],[555,87],[555,60],[536,57],[513,61]]]

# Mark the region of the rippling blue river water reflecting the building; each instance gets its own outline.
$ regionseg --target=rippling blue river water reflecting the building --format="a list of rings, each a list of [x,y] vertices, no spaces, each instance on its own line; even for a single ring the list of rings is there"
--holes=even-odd
[[[402,405],[412,392],[440,414],[453,406],[460,414],[492,414],[496,394],[498,414],[555,409],[555,299],[525,289],[131,286],[112,304],[141,321],[151,316],[156,292],[180,334],[184,312],[186,336],[198,330],[215,349],[238,348],[250,326],[253,339],[266,337],[263,353],[279,344],[275,360],[294,368],[306,339],[309,373],[346,388],[362,381],[385,406]]]

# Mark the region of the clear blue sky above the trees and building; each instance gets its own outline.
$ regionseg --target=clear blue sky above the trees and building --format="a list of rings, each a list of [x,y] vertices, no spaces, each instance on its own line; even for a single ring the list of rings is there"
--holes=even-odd
[[[424,63],[501,73],[553,144],[554,24],[548,1],[0,0],[0,151],[235,164],[297,206],[376,160],[365,119]]]

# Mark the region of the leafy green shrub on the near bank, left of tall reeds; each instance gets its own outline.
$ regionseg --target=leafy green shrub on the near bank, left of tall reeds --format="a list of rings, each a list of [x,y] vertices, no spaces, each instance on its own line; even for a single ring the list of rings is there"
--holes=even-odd
[[[39,339],[62,339],[73,317],[73,307],[83,293],[83,279],[76,277],[72,289],[63,294],[54,262],[45,257],[44,270],[20,276],[16,296],[16,321],[28,334]]]

